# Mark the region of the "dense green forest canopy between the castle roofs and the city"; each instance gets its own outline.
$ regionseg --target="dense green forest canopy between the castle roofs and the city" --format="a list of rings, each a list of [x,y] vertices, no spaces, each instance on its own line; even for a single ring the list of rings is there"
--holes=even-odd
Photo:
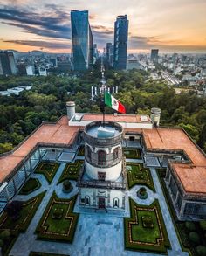
[[[0,96],[0,153],[13,149],[42,121],[57,121],[65,114],[65,102],[74,100],[77,112],[100,113],[100,99],[91,101],[91,86],[100,85],[99,69],[65,77],[1,77],[0,90],[32,86],[18,96]],[[206,150],[206,98],[194,92],[175,94],[161,80],[150,80],[143,71],[106,70],[108,86],[119,86],[115,97],[127,114],[150,114],[161,108],[161,126],[184,128]],[[106,107],[106,113],[113,110]]]

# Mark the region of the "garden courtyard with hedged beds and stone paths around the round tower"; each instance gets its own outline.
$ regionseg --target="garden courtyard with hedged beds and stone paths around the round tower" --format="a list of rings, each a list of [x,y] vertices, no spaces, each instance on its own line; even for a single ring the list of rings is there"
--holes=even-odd
[[[79,209],[76,180],[83,164],[81,154],[72,163],[43,159],[14,197],[23,202],[24,214],[17,225],[11,225],[5,212],[0,218],[1,231],[11,232],[3,255],[189,255],[182,252],[157,171],[143,166],[140,150],[128,149],[129,190],[126,211],[119,215]],[[69,193],[62,190],[66,179],[73,187]],[[147,199],[137,197],[142,186]]]

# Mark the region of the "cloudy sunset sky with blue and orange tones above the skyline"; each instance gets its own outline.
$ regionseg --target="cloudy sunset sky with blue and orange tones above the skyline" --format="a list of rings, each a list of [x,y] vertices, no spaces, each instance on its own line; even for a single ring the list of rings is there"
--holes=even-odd
[[[71,52],[70,10],[89,10],[100,49],[127,14],[129,52],[206,53],[206,0],[0,0],[0,49]]]

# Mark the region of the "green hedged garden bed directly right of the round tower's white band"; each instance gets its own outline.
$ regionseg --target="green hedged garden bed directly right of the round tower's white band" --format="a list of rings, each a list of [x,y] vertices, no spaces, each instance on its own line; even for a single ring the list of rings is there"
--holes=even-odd
[[[126,168],[129,189],[134,185],[146,185],[155,191],[150,170],[145,168],[142,163],[126,163]]]

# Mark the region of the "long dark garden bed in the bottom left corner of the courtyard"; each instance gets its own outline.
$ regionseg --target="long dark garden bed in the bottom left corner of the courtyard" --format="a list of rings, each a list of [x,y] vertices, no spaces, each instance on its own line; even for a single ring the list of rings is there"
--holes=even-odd
[[[10,209],[10,213],[8,211],[3,211],[3,214],[0,217],[0,237],[3,241],[3,255],[8,255],[10,253],[10,249],[14,245],[19,233],[26,231],[44,196],[45,192],[36,197],[32,197],[28,201],[21,201],[19,203],[20,206],[18,203],[15,204],[16,206],[13,204]],[[19,206],[18,208],[20,209],[19,211],[17,211],[17,204]],[[11,213],[14,211],[17,211],[17,218],[14,218],[14,216],[11,217]],[[10,235],[2,237],[1,234],[4,231],[9,232]]]

